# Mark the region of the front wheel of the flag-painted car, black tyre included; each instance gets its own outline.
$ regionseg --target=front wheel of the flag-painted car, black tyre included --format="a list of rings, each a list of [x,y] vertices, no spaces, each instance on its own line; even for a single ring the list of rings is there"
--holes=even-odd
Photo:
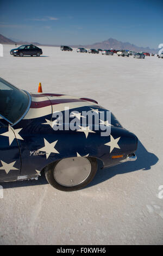
[[[97,160],[91,157],[70,157],[45,168],[49,184],[62,191],[75,191],[85,187],[96,172]]]

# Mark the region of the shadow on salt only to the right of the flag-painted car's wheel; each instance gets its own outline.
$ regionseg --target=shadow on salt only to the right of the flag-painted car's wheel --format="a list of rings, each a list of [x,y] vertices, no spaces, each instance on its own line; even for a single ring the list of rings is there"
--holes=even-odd
[[[110,178],[117,174],[135,172],[136,170],[150,170],[151,166],[156,164],[159,160],[155,154],[149,153],[140,141],[138,142],[138,147],[135,154],[137,156],[137,160],[134,162],[124,162],[118,164],[117,166],[105,169],[101,169],[101,166],[99,166],[95,178],[86,187],[91,187],[100,184],[101,182],[109,180]]]

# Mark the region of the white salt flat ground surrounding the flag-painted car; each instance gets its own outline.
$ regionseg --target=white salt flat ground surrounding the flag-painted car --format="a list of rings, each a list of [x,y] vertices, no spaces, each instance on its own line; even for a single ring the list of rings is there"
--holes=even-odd
[[[0,76],[17,87],[90,97],[139,138],[137,161],[98,170],[90,186],[62,192],[38,181],[3,183],[0,243],[12,245],[163,244],[163,59],[61,52],[12,57]]]

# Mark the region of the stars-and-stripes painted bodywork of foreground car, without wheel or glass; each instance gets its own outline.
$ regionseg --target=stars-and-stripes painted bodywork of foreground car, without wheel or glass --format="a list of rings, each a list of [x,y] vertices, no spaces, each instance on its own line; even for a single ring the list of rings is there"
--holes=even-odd
[[[62,94],[30,94],[32,102],[27,114],[16,125],[9,126],[0,117],[0,181],[20,180],[21,176],[37,177],[48,164],[66,157],[95,157],[104,167],[120,163],[112,155],[134,153],[136,136],[123,129],[111,114],[111,135],[102,137],[100,131],[54,131],[54,112],[107,110],[97,101]],[[98,114],[98,113],[97,113]],[[72,120],[73,117],[70,117]],[[63,120],[64,121],[64,120]],[[121,159],[122,160],[122,159]]]

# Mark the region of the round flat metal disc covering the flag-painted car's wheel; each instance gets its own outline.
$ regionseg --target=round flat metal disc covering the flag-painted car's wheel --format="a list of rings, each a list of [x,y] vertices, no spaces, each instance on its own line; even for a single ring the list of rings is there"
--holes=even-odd
[[[54,179],[62,186],[77,186],[91,173],[91,163],[85,157],[62,159],[54,168]]]

